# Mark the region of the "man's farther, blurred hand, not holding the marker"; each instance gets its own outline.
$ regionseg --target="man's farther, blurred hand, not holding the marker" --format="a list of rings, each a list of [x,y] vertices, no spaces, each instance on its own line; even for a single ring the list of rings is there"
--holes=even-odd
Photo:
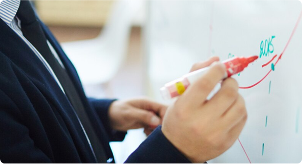
[[[149,135],[162,124],[167,106],[148,99],[115,101],[109,109],[111,127],[119,131],[145,128]]]

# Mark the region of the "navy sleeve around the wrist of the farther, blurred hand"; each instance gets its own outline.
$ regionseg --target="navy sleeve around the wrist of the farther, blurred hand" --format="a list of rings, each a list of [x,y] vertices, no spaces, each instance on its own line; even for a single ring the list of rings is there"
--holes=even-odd
[[[111,104],[116,101],[116,99],[89,99],[90,103],[96,110],[102,124],[104,125],[106,132],[109,134],[109,139],[111,142],[124,140],[127,132],[116,131],[111,128],[108,111]]]

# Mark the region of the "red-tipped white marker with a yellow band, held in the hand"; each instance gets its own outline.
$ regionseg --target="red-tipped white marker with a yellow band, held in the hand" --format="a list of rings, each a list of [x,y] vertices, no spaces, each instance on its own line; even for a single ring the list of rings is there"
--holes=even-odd
[[[229,60],[224,61],[224,65],[226,67],[225,77],[231,77],[235,74],[242,72],[250,63],[258,59],[258,56],[251,57],[235,57]],[[171,81],[165,84],[164,87],[160,89],[161,95],[164,99],[171,99],[178,97],[184,93],[184,91],[193,83],[195,83],[202,75],[209,69],[209,67],[205,67],[199,69],[197,71],[191,72],[189,74],[184,75],[183,77]],[[222,79],[222,80],[223,80]]]

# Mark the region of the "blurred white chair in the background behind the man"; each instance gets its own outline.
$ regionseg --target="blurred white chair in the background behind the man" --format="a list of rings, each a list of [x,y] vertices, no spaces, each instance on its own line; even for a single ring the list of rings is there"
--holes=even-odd
[[[102,33],[89,40],[62,43],[84,85],[107,83],[118,72],[126,52],[140,0],[116,0]]]

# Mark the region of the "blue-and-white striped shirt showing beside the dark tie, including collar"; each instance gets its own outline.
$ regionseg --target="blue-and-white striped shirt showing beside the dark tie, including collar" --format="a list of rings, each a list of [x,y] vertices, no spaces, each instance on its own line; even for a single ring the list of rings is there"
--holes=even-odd
[[[44,57],[38,52],[38,50],[24,37],[22,31],[21,31],[21,21],[16,17],[16,13],[19,9],[21,0],[4,0],[0,3],[0,18],[21,38],[23,41],[29,46],[29,48],[36,54],[36,56],[40,59],[40,61],[45,65],[45,67],[48,69],[50,74],[53,76],[53,78],[58,83],[61,90],[64,92],[63,87],[61,86],[61,83],[59,82],[57,76],[54,74],[52,68],[48,64],[48,62],[44,59]],[[48,42],[48,45],[50,47],[50,50],[56,57],[56,59],[59,61],[61,66],[63,64],[61,63],[60,59],[58,58],[57,53],[54,51],[52,45]],[[65,92],[64,92],[65,93]]]

